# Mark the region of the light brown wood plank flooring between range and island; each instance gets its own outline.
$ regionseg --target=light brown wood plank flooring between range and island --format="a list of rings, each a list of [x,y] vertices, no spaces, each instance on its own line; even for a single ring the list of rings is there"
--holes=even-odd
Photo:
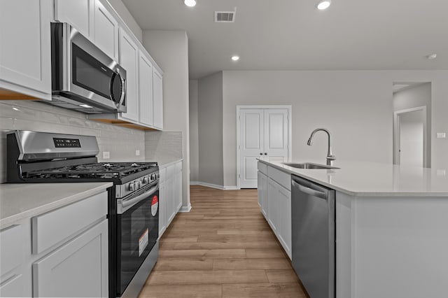
[[[160,239],[139,297],[307,297],[260,212],[257,190],[193,185]]]

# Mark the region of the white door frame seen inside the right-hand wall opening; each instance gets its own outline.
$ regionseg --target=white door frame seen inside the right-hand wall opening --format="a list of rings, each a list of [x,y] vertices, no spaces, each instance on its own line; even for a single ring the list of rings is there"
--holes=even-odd
[[[400,164],[400,121],[402,114],[423,111],[423,167],[427,166],[428,136],[426,136],[426,127],[428,125],[426,106],[416,106],[415,108],[406,108],[404,110],[393,112],[393,164]]]

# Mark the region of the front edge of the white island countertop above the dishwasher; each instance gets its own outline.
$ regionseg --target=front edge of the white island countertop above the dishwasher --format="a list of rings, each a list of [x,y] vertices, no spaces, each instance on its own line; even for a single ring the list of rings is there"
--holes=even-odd
[[[276,162],[269,162],[264,159],[257,158],[259,162],[272,166],[279,171],[283,171],[307,180],[311,180],[315,183],[323,185],[325,187],[332,188],[338,192],[343,192],[351,197],[448,197],[448,192],[353,192],[351,190],[346,190],[345,188],[338,187],[337,185],[330,184],[320,179],[316,179],[311,176],[307,176],[305,173],[300,173],[290,166],[279,165]],[[302,171],[326,171],[325,169],[302,169]]]

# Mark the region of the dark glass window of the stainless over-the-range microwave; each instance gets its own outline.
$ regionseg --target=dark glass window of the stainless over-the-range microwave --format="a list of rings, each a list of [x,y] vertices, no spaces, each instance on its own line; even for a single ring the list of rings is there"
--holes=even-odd
[[[73,84],[110,98],[113,71],[72,43]]]

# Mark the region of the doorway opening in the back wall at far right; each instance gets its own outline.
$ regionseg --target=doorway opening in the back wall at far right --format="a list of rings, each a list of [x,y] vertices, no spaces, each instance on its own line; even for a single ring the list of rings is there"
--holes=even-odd
[[[393,83],[393,163],[430,167],[431,84]]]

